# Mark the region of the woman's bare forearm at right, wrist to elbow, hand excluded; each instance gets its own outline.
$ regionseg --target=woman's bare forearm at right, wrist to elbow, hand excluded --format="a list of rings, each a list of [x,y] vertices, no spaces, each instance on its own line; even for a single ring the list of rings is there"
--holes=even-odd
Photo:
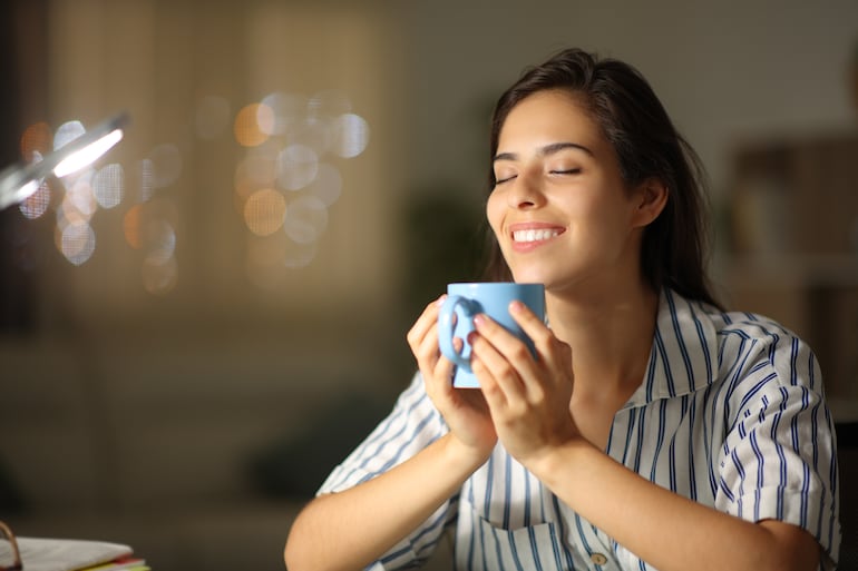
[[[563,502],[657,569],[817,569],[819,545],[808,532],[774,520],[752,523],[682,498],[582,439],[528,467]]]

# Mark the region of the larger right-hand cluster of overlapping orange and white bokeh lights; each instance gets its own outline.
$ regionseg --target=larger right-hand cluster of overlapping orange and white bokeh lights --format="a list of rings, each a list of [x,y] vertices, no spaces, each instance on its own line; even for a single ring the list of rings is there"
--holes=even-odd
[[[339,168],[324,159],[357,157],[369,134],[348,95],[337,89],[311,97],[272,92],[236,114],[235,138],[247,154],[235,169],[234,200],[253,235],[251,282],[272,287],[284,268],[304,267],[315,257],[328,208],[343,193]]]

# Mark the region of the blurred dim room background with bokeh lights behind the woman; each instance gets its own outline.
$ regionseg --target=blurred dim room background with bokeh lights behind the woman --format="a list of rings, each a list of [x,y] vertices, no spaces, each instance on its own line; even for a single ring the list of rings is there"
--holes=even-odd
[[[807,337],[858,419],[852,0],[9,0],[0,27],[0,168],[131,119],[0,211],[20,535],[282,569],[410,380],[412,321],[477,276],[495,98],[567,46],[650,79],[709,168],[722,296]]]

